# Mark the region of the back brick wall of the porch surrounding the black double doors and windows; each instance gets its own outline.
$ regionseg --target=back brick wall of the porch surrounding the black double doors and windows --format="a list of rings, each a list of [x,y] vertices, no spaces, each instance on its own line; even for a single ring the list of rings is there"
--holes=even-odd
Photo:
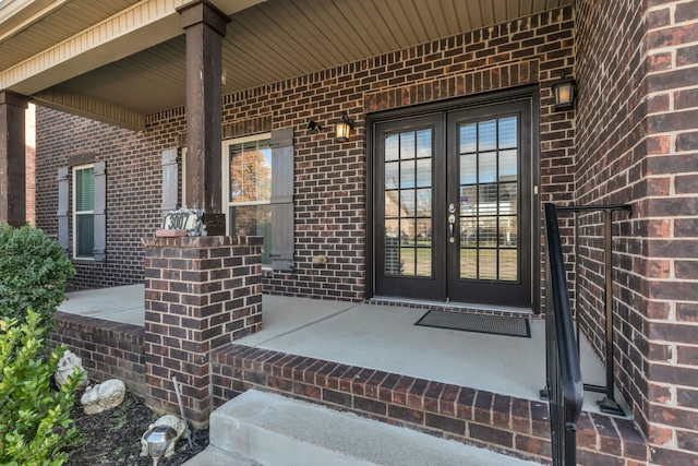
[[[296,271],[265,278],[265,291],[365,297],[368,112],[540,85],[541,200],[571,199],[574,113],[551,111],[550,85],[573,71],[573,26],[570,8],[555,10],[225,96],[226,139],[296,129]],[[325,127],[342,110],[357,121],[349,142],[306,131],[310,119]],[[39,127],[37,222],[47,231],[57,229],[57,168],[73,154],[107,160],[107,263],[77,264],[74,286],[142,280],[141,239],[159,219],[160,151],[184,144],[183,108],[148,116],[142,134],[48,109]],[[318,253],[327,265],[312,265]]]

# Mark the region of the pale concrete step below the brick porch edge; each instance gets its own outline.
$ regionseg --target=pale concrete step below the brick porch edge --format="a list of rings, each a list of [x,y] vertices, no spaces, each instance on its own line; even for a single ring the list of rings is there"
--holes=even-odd
[[[216,409],[209,431],[209,447],[185,466],[540,466],[254,390]],[[209,450],[238,459],[213,463],[202,456]],[[240,457],[251,463],[234,463]]]

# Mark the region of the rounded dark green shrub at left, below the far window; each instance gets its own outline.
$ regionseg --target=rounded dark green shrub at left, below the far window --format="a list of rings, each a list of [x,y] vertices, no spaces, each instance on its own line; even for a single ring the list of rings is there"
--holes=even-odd
[[[33,309],[50,327],[73,273],[63,249],[44,231],[0,225],[0,315],[23,321]]]

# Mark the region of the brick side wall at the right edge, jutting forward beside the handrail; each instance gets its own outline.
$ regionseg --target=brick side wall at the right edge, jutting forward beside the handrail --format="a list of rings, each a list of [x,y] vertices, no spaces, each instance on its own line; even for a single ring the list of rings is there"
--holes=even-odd
[[[577,19],[578,198],[636,207],[614,244],[615,373],[652,463],[698,464],[698,4],[580,1]],[[580,291],[597,336],[598,222]]]

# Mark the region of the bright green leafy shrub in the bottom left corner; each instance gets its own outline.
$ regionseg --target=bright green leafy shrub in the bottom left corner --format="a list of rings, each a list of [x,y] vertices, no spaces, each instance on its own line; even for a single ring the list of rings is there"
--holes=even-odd
[[[77,431],[70,411],[81,374],[60,390],[51,378],[64,347],[52,351],[44,336],[46,326],[27,310],[25,321],[0,320],[0,464],[60,466],[68,455],[60,450],[73,443]],[[47,355],[47,353],[49,353]]]

